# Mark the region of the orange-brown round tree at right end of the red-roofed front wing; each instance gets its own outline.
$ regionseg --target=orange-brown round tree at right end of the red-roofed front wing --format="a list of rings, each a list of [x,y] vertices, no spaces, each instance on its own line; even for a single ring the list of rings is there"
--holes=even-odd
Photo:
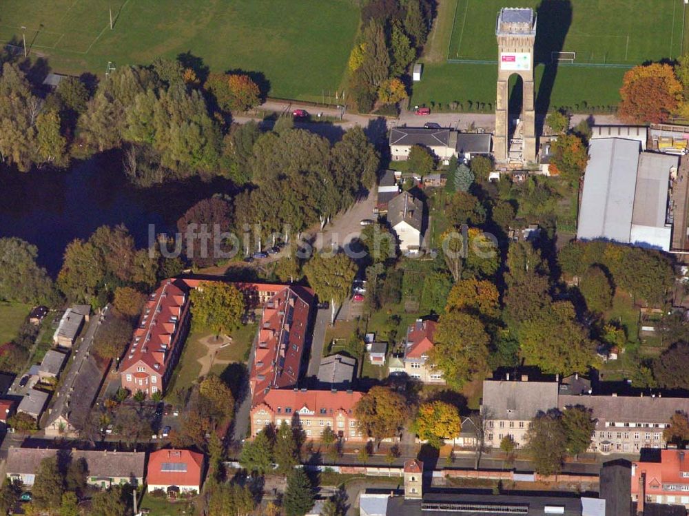
[[[407,400],[384,386],[374,386],[354,406],[360,431],[379,442],[393,437],[409,417]]]

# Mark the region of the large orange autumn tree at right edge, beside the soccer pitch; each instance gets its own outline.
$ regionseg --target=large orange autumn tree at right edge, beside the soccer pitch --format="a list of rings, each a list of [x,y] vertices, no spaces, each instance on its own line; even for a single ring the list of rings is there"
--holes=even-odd
[[[622,79],[617,115],[631,124],[666,122],[677,110],[682,91],[670,65],[635,66]]]

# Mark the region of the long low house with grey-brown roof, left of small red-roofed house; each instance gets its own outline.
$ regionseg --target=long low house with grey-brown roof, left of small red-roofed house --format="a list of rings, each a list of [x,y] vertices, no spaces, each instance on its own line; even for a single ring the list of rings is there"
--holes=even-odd
[[[95,451],[51,448],[17,448],[10,446],[7,456],[6,476],[21,480],[24,486],[32,486],[41,461],[57,457],[61,464],[84,460],[88,469],[86,482],[91,486],[109,488],[122,484],[141,486],[146,453],[143,451]]]

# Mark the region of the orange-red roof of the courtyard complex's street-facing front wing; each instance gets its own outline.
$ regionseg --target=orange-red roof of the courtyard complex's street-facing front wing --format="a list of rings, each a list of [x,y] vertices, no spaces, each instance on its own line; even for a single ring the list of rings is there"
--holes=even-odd
[[[353,391],[309,391],[295,389],[271,389],[261,404],[267,406],[274,413],[295,414],[306,408],[313,414],[333,414],[343,411],[351,415],[354,405],[362,397],[362,393]],[[254,405],[254,410],[258,404]],[[285,409],[290,409],[285,411]],[[325,411],[325,412],[322,412]]]

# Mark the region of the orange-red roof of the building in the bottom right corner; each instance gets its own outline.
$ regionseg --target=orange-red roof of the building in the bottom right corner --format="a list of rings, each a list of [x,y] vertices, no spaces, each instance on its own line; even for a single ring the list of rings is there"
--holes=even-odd
[[[661,450],[661,462],[634,462],[632,475],[632,493],[639,492],[639,477],[641,473],[646,475],[646,494],[660,495],[675,491],[664,491],[663,484],[685,484],[689,486],[689,477],[683,477],[682,473],[689,474],[689,451],[686,450]]]

